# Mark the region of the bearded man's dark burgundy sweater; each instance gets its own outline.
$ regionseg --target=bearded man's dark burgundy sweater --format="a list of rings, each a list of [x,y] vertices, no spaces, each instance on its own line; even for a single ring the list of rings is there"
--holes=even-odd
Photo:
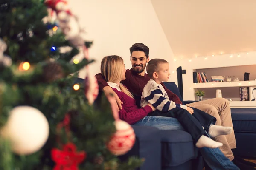
[[[137,106],[140,108],[141,94],[143,92],[143,88],[150,80],[150,77],[146,73],[145,73],[145,76],[140,76],[139,74],[135,73],[132,68],[130,70],[128,69],[126,70],[125,77],[126,79],[123,80],[121,83],[126,87],[128,87],[129,91],[134,95],[134,99],[136,100]],[[105,86],[108,86],[108,83],[106,82],[102,74],[100,73],[96,74],[96,78],[98,80],[99,90],[102,91],[102,89]],[[170,100],[172,100],[177,104],[182,104],[182,102],[180,101],[180,98],[176,94],[172,93],[172,91],[169,91],[169,89],[165,87],[163,82],[161,83],[161,85],[163,85],[163,88],[166,91]]]

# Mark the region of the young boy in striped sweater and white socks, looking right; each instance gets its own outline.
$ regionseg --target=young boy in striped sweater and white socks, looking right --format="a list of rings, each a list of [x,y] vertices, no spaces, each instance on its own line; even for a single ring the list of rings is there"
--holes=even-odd
[[[183,128],[189,132],[197,147],[221,147],[222,143],[215,142],[207,137],[206,130],[210,137],[227,135],[232,132],[232,127],[214,125],[215,117],[203,111],[195,111],[185,105],[176,104],[169,100],[161,82],[169,79],[169,63],[164,59],[151,59],[146,67],[151,79],[145,85],[141,96],[141,107],[148,103],[153,105],[157,111],[148,116],[167,116],[177,118]]]

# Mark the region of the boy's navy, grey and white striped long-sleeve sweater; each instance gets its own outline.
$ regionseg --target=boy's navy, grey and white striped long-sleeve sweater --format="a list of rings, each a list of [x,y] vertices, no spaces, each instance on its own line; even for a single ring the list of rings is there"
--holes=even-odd
[[[163,86],[157,84],[153,79],[150,79],[145,85],[141,96],[141,107],[145,107],[148,103],[162,112],[167,112],[173,108],[187,109],[185,105],[176,104],[175,102],[170,101]]]

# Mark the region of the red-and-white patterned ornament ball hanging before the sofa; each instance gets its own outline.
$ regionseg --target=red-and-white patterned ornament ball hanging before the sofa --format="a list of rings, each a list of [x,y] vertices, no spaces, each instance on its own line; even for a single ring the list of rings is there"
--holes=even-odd
[[[114,155],[123,155],[133,147],[135,143],[135,133],[131,125],[118,120],[115,122],[116,133],[107,144],[108,150]]]

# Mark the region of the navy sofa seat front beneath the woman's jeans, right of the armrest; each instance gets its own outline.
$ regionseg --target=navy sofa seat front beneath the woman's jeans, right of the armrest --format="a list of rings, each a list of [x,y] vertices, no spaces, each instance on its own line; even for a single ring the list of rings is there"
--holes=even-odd
[[[173,167],[198,157],[192,136],[182,130],[161,130],[162,167]]]

